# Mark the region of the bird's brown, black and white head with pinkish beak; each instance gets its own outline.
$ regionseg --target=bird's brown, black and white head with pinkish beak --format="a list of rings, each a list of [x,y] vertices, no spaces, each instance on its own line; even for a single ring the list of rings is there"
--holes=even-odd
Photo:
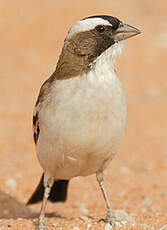
[[[69,30],[57,69],[60,67],[62,69],[66,63],[66,70],[71,68],[71,72],[66,73],[68,76],[89,71],[92,63],[95,63],[109,48],[113,59],[111,61],[115,62],[115,57],[121,51],[122,41],[139,33],[135,27],[124,24],[112,16],[98,15],[84,18]]]

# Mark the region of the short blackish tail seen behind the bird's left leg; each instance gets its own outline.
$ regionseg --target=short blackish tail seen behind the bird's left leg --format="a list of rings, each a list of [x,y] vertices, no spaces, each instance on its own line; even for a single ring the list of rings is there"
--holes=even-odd
[[[32,194],[30,199],[27,202],[27,205],[29,204],[35,204],[43,199],[44,195],[44,174],[41,177],[41,180],[35,190],[35,192]],[[68,180],[57,180],[54,182],[48,200],[51,202],[63,202],[66,201],[67,198],[67,189],[68,189]]]

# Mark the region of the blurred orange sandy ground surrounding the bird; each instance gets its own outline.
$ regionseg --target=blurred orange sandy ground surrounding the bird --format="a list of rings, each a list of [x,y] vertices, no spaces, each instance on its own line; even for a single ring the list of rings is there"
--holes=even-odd
[[[165,0],[0,0],[0,227],[34,229],[31,219],[38,215],[40,205],[25,206],[42,173],[32,138],[34,104],[41,84],[55,69],[69,27],[97,14],[116,16],[142,31],[126,42],[117,60],[128,121],[106,178],[112,207],[132,213],[135,222],[125,229],[165,226],[166,12]],[[48,212],[58,210],[67,218],[53,214],[47,219],[49,229],[55,229],[53,223],[59,229],[86,229],[80,217],[99,219],[104,205],[95,176],[75,178],[65,204],[48,204]],[[96,229],[104,228],[99,224]]]

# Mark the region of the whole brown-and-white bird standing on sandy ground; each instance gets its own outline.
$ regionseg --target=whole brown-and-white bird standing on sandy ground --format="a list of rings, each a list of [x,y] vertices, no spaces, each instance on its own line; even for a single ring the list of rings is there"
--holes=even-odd
[[[104,176],[126,128],[126,100],[115,62],[124,41],[140,33],[110,15],[85,17],[69,29],[55,71],[40,88],[33,114],[43,175],[27,204],[42,201],[38,230],[47,228],[47,200],[65,201],[69,181],[92,174],[106,203],[103,221],[114,223]]]

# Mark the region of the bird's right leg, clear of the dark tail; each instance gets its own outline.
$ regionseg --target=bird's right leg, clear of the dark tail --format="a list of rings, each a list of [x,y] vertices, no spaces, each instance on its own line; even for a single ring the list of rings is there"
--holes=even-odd
[[[103,193],[103,197],[105,199],[105,203],[106,203],[106,206],[107,206],[107,215],[102,220],[104,222],[110,222],[110,223],[114,224],[115,223],[115,215],[112,212],[111,205],[110,205],[110,202],[109,202],[109,199],[108,199],[108,195],[107,195],[106,189],[104,187],[104,174],[103,174],[103,172],[97,172],[96,173],[96,178],[97,178],[97,181],[98,181],[98,183],[100,185],[100,188],[101,188],[101,191]]]

